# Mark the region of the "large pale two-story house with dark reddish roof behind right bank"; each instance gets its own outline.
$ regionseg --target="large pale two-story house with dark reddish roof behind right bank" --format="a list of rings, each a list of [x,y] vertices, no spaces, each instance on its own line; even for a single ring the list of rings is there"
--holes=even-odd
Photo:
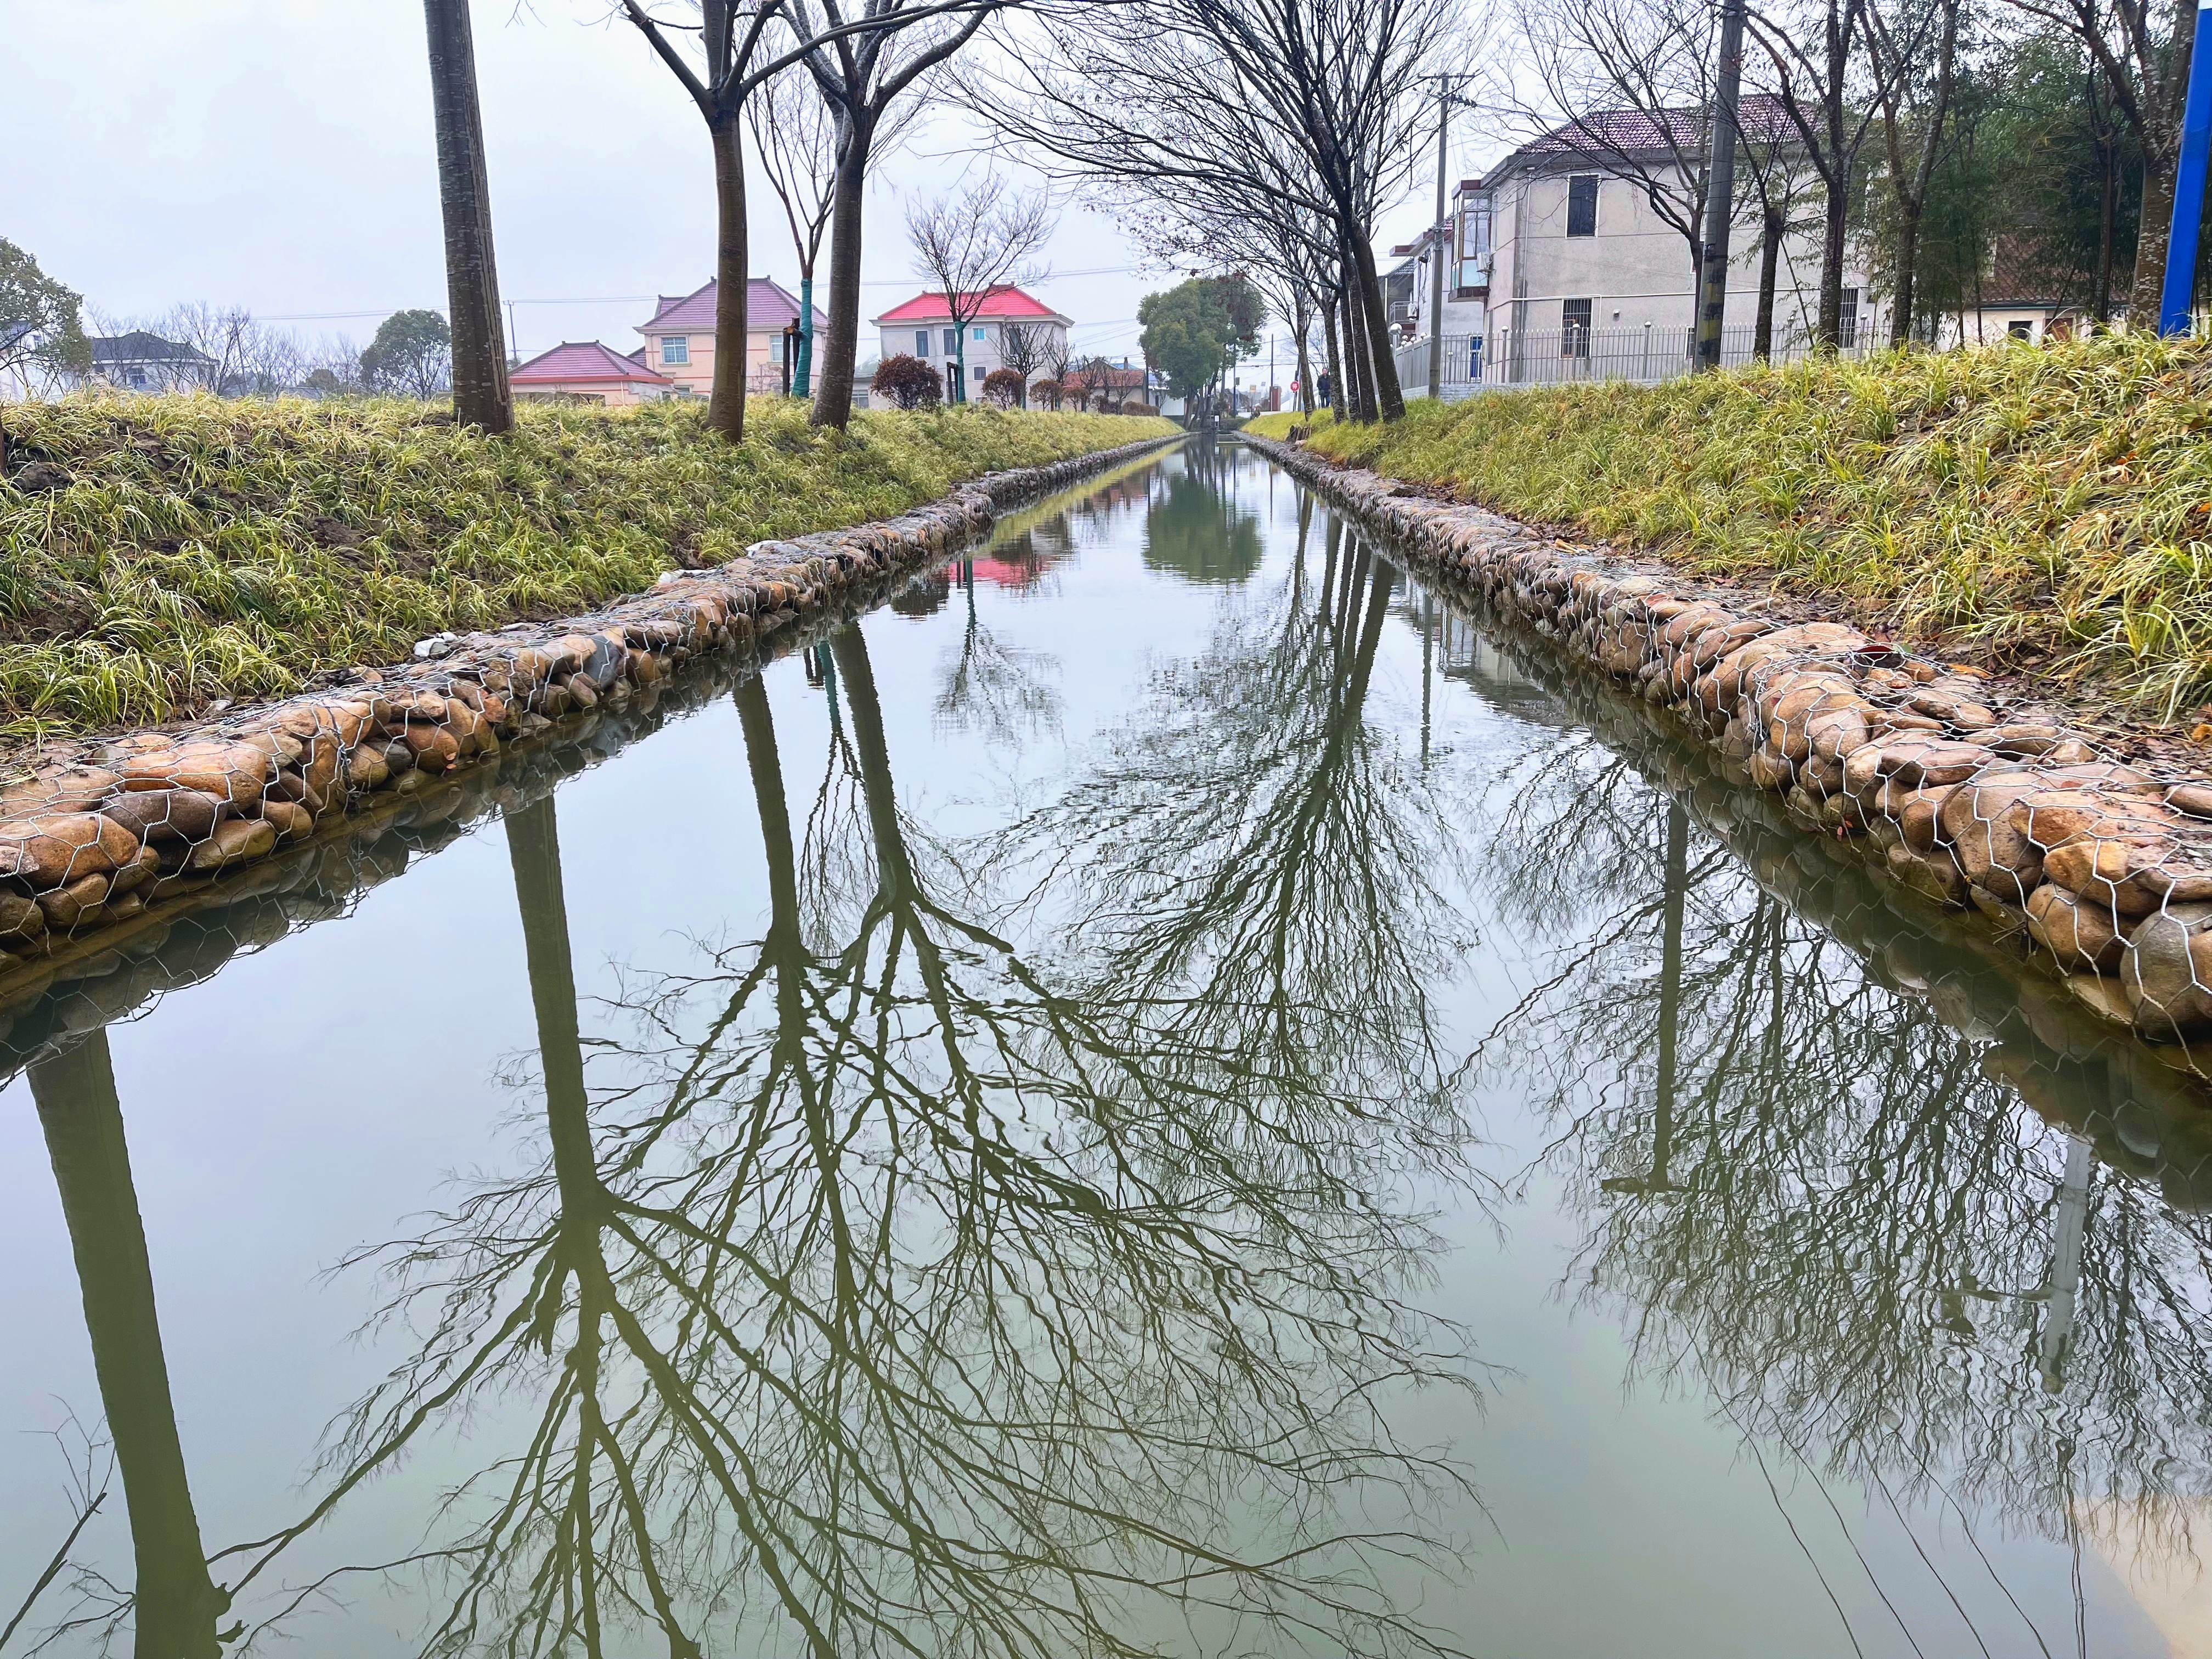
[[[1781,102],[1743,100],[1747,144],[1787,166],[1794,128]],[[1697,321],[1697,272],[1681,221],[1703,195],[1705,111],[1597,111],[1520,146],[1455,197],[1458,285],[1473,301],[1444,334],[1480,336],[1482,380],[1661,378],[1683,367]],[[1739,157],[1723,343],[1750,354],[1759,310],[1761,212]],[[1655,206],[1652,197],[1666,206]],[[1820,232],[1803,210],[1776,263],[1774,347],[1814,332]],[[1429,285],[1418,303],[1427,307]],[[1425,319],[1422,319],[1425,321]],[[1843,276],[1843,345],[1876,338],[1863,257]]]

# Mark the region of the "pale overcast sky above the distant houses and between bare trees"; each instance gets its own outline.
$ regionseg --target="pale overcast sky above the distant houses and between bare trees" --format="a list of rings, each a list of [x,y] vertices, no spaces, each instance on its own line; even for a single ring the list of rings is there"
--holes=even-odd
[[[476,0],[500,290],[524,356],[564,338],[628,352],[653,294],[710,274],[706,128],[608,9]],[[15,71],[0,237],[93,312],[144,319],[210,301],[365,343],[394,310],[445,310],[416,0],[0,0],[0,18]],[[867,206],[869,316],[920,288],[905,201],[980,166],[951,115],[883,164]],[[759,177],[752,208],[754,274],[794,285],[790,234]],[[1407,201],[1378,241],[1422,219]],[[1144,268],[1110,217],[1073,206],[1048,259],[1037,294],[1075,319],[1077,347],[1135,354],[1139,296],[1175,276]]]

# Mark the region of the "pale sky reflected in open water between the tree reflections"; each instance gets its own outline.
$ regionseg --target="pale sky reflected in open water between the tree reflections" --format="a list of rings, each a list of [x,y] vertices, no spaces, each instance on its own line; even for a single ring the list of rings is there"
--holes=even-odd
[[[1146,495],[1128,487],[1119,487],[1121,504],[1071,518],[1073,551],[1055,560],[1046,599],[984,575],[995,560],[975,560],[978,624],[1048,664],[1062,697],[1060,726],[1029,741],[984,743],[938,719],[945,661],[969,626],[964,602],[865,624],[900,796],[922,825],[942,836],[989,832],[1051,799],[1084,774],[1102,739],[1146,717],[1161,677],[1201,659],[1225,619],[1276,615],[1294,564],[1296,495],[1250,462],[1228,487],[1256,549],[1254,568],[1232,586],[1192,591],[1152,568]],[[1155,507],[1168,489],[1155,476]],[[1321,580],[1323,526],[1316,513],[1307,597]],[[1387,757],[1411,765],[1427,703],[1440,794],[1475,803],[1491,776],[1562,719],[1509,666],[1475,661],[1464,630],[1431,648],[1425,684],[1413,615],[1400,591],[1367,726]],[[803,818],[830,741],[830,706],[799,661],[776,664],[768,690],[794,818]],[[1528,703],[1526,717],[1515,703]],[[765,918],[737,714],[723,701],[675,721],[575,776],[557,799],[591,1040],[611,1029],[595,998],[615,993],[617,964],[686,967],[695,960],[686,936],[748,938]],[[1480,836],[1482,823],[1467,805],[1449,830]],[[1460,975],[1436,987],[1447,1053],[1464,1053],[1548,971],[1544,942],[1500,922],[1495,896],[1455,900],[1462,936],[1478,942]],[[312,927],[168,995],[144,1020],[115,1026],[111,1042],[201,1531],[210,1546],[257,1537],[301,1506],[330,1416],[400,1352],[389,1336],[347,1340],[376,1283],[325,1270],[405,1230],[407,1217],[449,1208],[469,1172],[515,1168],[531,1155],[529,1137],[509,1124],[520,1097],[495,1082],[535,1046],[500,825],[369,891],[349,920]],[[1491,1079],[1475,1104],[1491,1141],[1484,1161],[1500,1172],[1526,1168],[1557,1135],[1531,1115],[1528,1079]],[[0,1091],[0,1181],[11,1356],[0,1369],[0,1427],[38,1431],[60,1422],[62,1402],[91,1416],[97,1394],[20,1079]],[[1973,1652],[1949,1599],[1958,1595],[1993,1652],[2033,1652],[2008,1593],[2053,1652],[2073,1650],[2064,1546],[1986,1513],[1971,1513],[1969,1542],[1958,1515],[1913,1502],[1891,1511],[1882,1493],[1825,1475],[1772,1440],[1754,1442],[1754,1455],[1694,1376],[1624,1387],[1619,1310],[1575,1305],[1573,1287],[1559,1294],[1588,1223],[1566,1188],[1546,1166],[1517,1203],[1498,1210],[1502,1230],[1464,1192],[1427,1194],[1453,1243],[1433,1307],[1464,1321],[1482,1358],[1502,1367],[1482,1413],[1444,1396],[1400,1402],[1409,1438],[1455,1440],[1486,1504],[1486,1513],[1442,1517],[1473,1546],[1473,1568],[1460,1586],[1420,1586],[1431,1619],[1453,1626],[1467,1648],[1513,1659],[1812,1659],[1854,1652],[1832,1593],[1865,1655],[1911,1652],[1905,1630],[1927,1655]],[[480,1467],[513,1427],[498,1413],[480,1418],[471,1444],[434,1444],[398,1478],[363,1491],[303,1546],[285,1582],[414,1548],[440,1482]],[[0,1604],[11,1608],[27,1588],[22,1564],[44,1562],[66,1531],[53,1444],[38,1433],[0,1436]],[[86,1546],[113,1577],[128,1577],[119,1491]],[[2079,1562],[2088,1650],[2168,1652],[2108,1555],[2132,1562],[2126,1540],[2093,1544]],[[411,1650],[405,1635],[418,1606],[407,1595],[363,1584],[347,1599],[345,1610],[316,1615],[305,1650],[343,1659]],[[2185,1599],[2170,1586],[2143,1593],[2170,1630],[2185,1617],[2170,1608]],[[1175,1630],[1150,1635],[1177,1641]]]

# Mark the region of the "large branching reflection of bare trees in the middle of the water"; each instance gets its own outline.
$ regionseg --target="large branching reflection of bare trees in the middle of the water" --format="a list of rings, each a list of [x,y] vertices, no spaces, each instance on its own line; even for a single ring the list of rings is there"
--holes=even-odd
[[[1287,622],[1296,672],[1336,697],[1283,770],[1285,854],[1354,854],[1336,796],[1378,787],[1356,726],[1387,566],[1363,557],[1360,591]],[[1449,1553],[1360,1520],[1464,1495],[1383,1416],[1398,1387],[1467,1387],[1458,1334],[1407,1301],[1431,1237],[1385,1179],[1413,1130],[1449,1130],[1413,958],[1380,938],[1396,900],[1356,872],[1221,872],[1097,962],[1031,960],[900,812],[860,630],[821,679],[843,717],[807,845],[768,695],[737,692],[765,933],[630,975],[637,1035],[593,1048],[591,1091],[553,805],[509,818],[549,1150],[374,1252],[389,1321],[427,1336],[341,1425],[310,1513],[243,1551],[246,1582],[418,1442],[529,1400],[524,1444],[409,1562],[445,1584],[429,1652],[787,1630],[823,1657],[1135,1655],[1177,1626],[1451,1650],[1391,1588]],[[865,860],[812,845],[847,836]],[[1376,938],[1316,949],[1343,918]],[[1177,989],[1254,951],[1265,993]],[[1360,1044],[1307,1053],[1312,1004],[1360,1002],[1327,978],[1376,967],[1396,984]],[[1418,1121],[1360,1108],[1400,1093],[1389,1064],[1427,1077]]]

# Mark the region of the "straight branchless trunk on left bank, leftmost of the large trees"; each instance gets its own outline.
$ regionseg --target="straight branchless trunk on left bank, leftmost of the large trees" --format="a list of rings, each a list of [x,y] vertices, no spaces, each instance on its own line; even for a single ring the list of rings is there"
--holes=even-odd
[[[453,325],[453,418],[484,431],[515,425],[491,254],[491,181],[476,102],[469,0],[422,0],[429,102],[438,128],[438,208],[445,217],[445,299]]]

